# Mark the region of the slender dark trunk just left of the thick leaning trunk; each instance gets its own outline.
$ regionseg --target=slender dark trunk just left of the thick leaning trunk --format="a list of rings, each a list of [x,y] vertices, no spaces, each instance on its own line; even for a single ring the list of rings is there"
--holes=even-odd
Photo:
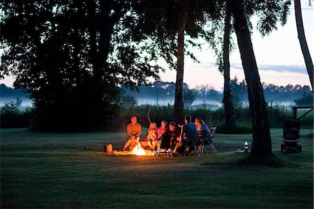
[[[232,103],[232,92],[230,87],[230,9],[227,7],[225,15],[225,34],[223,36],[223,103],[225,106],[225,126],[227,133],[231,134],[234,130],[234,113]]]

